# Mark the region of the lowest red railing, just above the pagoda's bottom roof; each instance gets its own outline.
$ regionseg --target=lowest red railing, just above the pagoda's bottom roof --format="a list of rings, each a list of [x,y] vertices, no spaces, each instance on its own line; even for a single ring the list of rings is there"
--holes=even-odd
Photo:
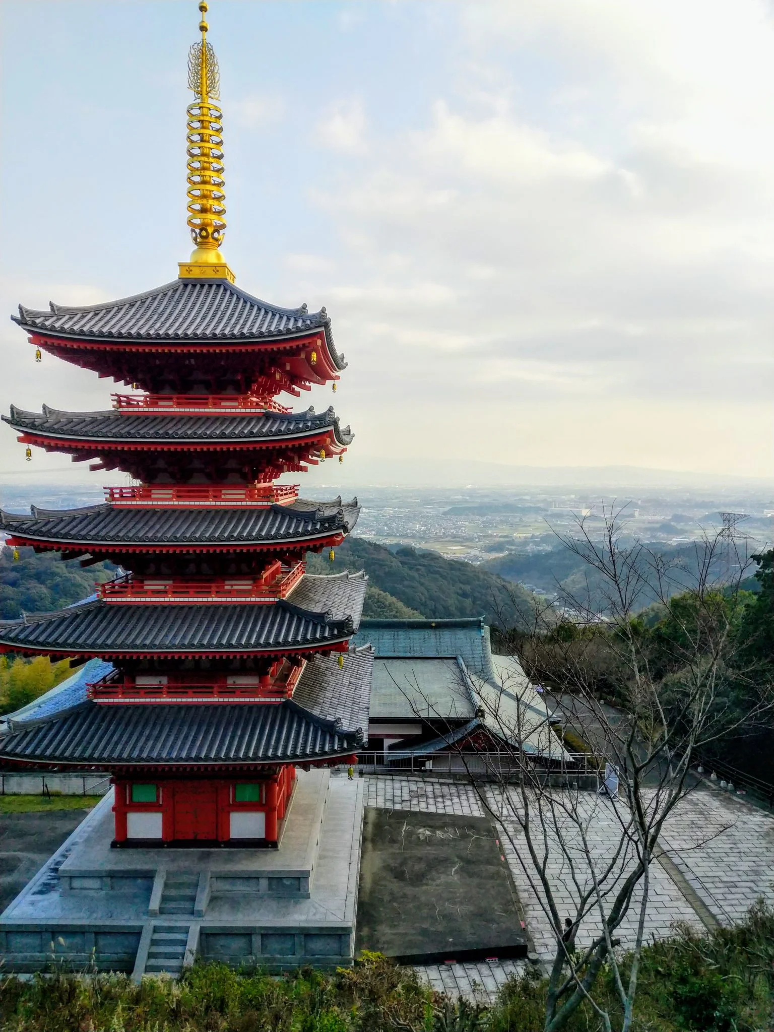
[[[166,674],[122,680],[108,674],[87,684],[87,695],[98,703],[279,703],[291,698],[304,666],[284,660],[273,677],[215,674],[208,681],[170,680]]]

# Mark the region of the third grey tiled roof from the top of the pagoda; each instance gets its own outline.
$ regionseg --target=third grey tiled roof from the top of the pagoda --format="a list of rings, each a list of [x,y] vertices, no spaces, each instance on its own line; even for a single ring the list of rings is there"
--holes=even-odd
[[[0,529],[24,541],[89,549],[169,545],[181,549],[314,543],[349,533],[357,522],[357,498],[317,503],[298,498],[292,505],[266,508],[130,509],[107,503],[61,511],[32,506],[31,516],[0,511]]]

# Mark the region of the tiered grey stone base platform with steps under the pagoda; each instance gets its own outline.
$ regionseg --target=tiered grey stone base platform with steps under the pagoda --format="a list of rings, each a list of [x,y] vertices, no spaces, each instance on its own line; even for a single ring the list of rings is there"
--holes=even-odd
[[[112,794],[0,915],[5,971],[352,963],[363,782],[298,772],[279,849],[111,849]]]

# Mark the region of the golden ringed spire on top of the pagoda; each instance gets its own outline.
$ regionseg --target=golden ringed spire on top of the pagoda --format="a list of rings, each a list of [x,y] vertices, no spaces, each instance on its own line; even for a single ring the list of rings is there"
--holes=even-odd
[[[220,99],[220,72],[206,38],[206,0],[200,0],[199,10],[201,42],[188,53],[188,87],[196,94],[188,106],[188,225],[196,248],[189,262],[180,263],[180,278],[233,283],[234,275],[220,252],[226,231],[223,114],[213,103]]]

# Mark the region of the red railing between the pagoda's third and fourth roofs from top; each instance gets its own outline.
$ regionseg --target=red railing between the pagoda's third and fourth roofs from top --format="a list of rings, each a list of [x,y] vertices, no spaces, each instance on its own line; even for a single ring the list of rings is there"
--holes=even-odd
[[[287,599],[305,572],[305,562],[283,567],[279,559],[258,577],[135,577],[127,574],[99,585],[105,602],[254,602]]]

